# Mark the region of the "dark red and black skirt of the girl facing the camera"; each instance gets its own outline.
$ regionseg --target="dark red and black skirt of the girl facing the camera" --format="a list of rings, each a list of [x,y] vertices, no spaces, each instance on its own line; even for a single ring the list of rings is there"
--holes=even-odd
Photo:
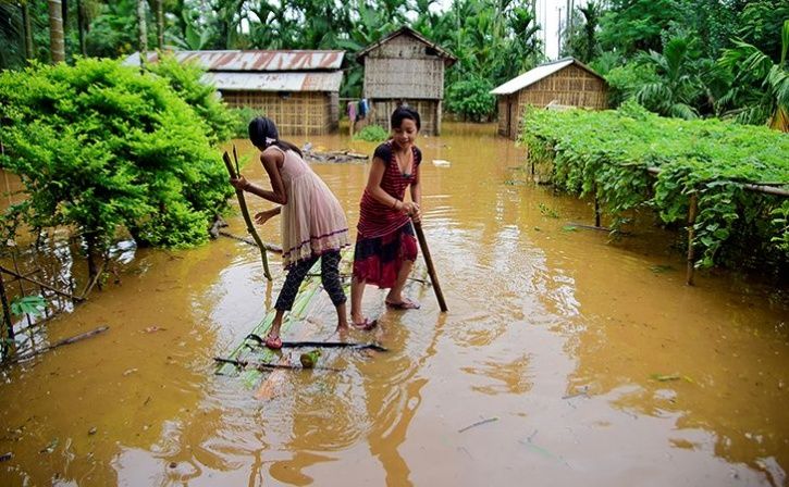
[[[417,238],[411,222],[382,237],[356,240],[354,277],[380,288],[394,287],[404,261],[417,260]]]

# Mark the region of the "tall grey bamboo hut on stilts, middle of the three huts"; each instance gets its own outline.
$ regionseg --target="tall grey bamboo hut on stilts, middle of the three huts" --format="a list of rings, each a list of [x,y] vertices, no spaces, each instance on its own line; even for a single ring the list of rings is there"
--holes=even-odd
[[[367,123],[389,129],[394,109],[407,104],[419,112],[421,133],[441,134],[444,70],[457,58],[410,27],[402,27],[361,50],[357,59],[365,65]]]

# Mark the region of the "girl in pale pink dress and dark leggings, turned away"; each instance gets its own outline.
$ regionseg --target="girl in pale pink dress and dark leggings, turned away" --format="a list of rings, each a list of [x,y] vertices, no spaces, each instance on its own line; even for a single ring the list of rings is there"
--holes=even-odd
[[[301,282],[319,258],[323,288],[337,310],[337,329],[347,328],[346,298],[338,265],[340,249],[348,246],[349,240],[348,223],[340,201],[307,165],[301,151],[293,143],[280,140],[274,122],[266,117],[252,120],[249,139],[261,151],[260,161],[271,179],[271,190],[249,183],[244,176],[231,179],[231,184],[280,204],[256,214],[255,221],[263,224],[274,215],[282,215],[282,258],[287,270],[285,284],[274,304],[276,314],[266,346],[282,348],[282,317],[293,308]]]

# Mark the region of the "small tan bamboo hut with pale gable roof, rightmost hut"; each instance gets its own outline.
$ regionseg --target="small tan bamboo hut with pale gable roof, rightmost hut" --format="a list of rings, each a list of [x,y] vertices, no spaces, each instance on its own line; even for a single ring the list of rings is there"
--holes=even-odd
[[[592,68],[572,58],[541,64],[493,89],[498,98],[498,133],[518,138],[528,105],[607,107],[607,84]]]

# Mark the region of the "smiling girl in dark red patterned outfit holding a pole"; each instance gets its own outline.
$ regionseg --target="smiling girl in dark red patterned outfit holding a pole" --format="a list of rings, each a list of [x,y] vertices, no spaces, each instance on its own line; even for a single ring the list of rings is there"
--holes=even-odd
[[[361,313],[365,285],[389,288],[390,308],[414,310],[419,303],[403,296],[403,286],[417,259],[415,222],[419,221],[422,191],[419,164],[422,152],[414,145],[421,122],[407,107],[392,113],[392,137],[375,149],[370,176],[361,197],[358,237],[350,282],[350,320],[358,329],[371,329],[374,321]],[[411,201],[405,201],[410,186]]]

